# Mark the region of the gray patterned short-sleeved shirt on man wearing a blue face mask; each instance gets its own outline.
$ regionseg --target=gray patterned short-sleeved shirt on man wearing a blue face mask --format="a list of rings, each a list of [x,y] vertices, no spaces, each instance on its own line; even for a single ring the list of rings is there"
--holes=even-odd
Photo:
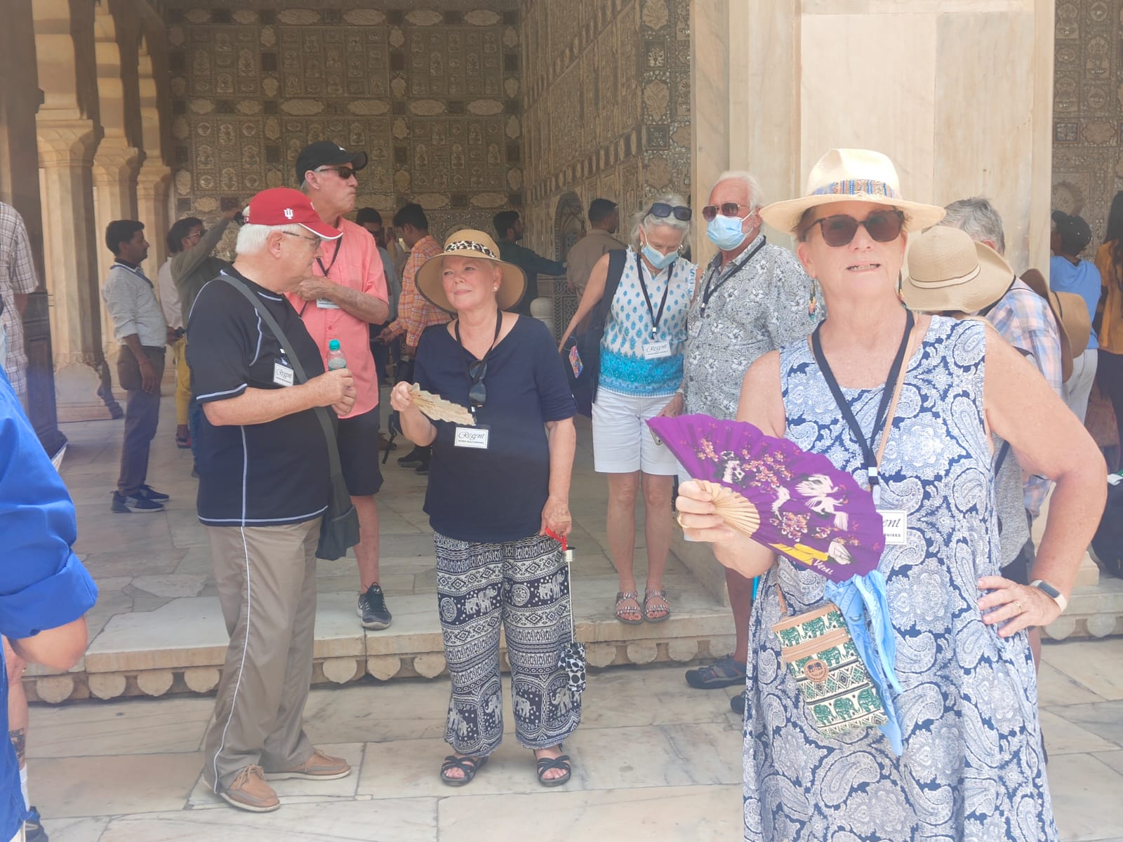
[[[811,333],[823,305],[819,285],[795,255],[768,245],[764,235],[724,272],[719,271],[720,262],[719,254],[706,267],[686,317],[683,385],[686,412],[732,419],[746,369],[768,351]],[[706,290],[710,300],[703,309]]]

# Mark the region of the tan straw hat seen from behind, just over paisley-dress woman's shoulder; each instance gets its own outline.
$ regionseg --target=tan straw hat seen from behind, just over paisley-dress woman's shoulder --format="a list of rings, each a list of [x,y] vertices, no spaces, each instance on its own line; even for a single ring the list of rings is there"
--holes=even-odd
[[[909,274],[901,282],[905,306],[929,313],[977,313],[1014,283],[1002,255],[966,231],[937,226],[913,238]]]

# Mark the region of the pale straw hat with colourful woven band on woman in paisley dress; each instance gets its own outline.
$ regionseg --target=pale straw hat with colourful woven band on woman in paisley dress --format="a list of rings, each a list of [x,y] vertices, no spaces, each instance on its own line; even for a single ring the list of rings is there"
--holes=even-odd
[[[944,213],[938,205],[902,199],[897,170],[882,153],[831,149],[811,167],[802,198],[773,202],[760,209],[760,217],[773,228],[795,234],[810,208],[831,202],[873,202],[896,208],[904,212],[909,231],[934,226]]]

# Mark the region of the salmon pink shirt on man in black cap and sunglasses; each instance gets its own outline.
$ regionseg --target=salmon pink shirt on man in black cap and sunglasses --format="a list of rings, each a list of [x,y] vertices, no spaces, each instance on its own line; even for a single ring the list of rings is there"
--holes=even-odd
[[[323,244],[321,256],[312,262],[312,274],[386,301],[386,274],[374,237],[349,219],[341,219],[336,227],[344,236]],[[304,301],[294,292],[287,293],[287,296],[320,349],[325,367],[328,342],[339,340],[339,349],[347,359],[347,368],[355,376],[355,391],[358,393],[354,409],[344,418],[362,415],[377,406],[378,378],[371,355],[368,323],[328,299]]]

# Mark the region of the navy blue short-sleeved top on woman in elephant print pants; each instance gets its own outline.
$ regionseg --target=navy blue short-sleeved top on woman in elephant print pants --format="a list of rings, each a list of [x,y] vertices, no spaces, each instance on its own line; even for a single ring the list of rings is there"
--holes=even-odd
[[[421,335],[413,376],[427,392],[468,405],[468,365],[475,359],[437,324]],[[549,496],[550,451],[545,424],[577,413],[565,364],[546,326],[520,317],[487,356],[487,400],[476,423],[487,449],[454,447],[456,424],[433,421],[424,511],[441,534],[502,543],[536,534]]]

